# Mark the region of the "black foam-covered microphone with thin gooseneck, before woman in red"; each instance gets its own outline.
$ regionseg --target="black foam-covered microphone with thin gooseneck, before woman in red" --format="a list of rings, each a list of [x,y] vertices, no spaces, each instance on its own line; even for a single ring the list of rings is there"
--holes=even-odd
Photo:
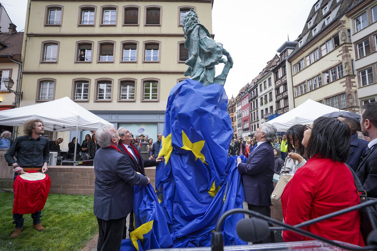
[[[256,217],[258,217],[258,215],[257,215],[258,213],[253,212],[252,215],[254,215],[254,214],[255,214]],[[305,230],[298,228],[296,226],[291,226],[291,225],[276,221],[274,219],[271,219],[271,220],[273,220],[272,222],[275,225],[284,226],[285,229],[294,231],[294,232],[299,233],[301,235],[305,235],[309,238],[316,239],[316,240],[322,241],[324,243],[327,243],[327,244],[330,244],[332,246],[336,246],[336,247],[339,247],[339,248],[342,248],[342,249],[354,250],[354,251],[377,250],[377,245],[376,245],[377,244],[377,241],[376,241],[377,240],[377,229],[372,231],[371,234],[368,236],[368,245],[369,246],[366,246],[366,247],[349,247],[349,246],[345,246],[343,244],[340,244],[338,242],[328,240],[328,239],[326,239],[322,236],[319,236],[319,235],[313,234],[311,232],[305,231]],[[266,232],[267,232],[267,234],[266,234]],[[263,233],[263,235],[262,235],[262,233]],[[254,217],[242,219],[237,224],[237,234],[243,241],[258,242],[258,241],[265,239],[268,236],[269,225],[268,225],[267,221],[257,219],[257,218],[254,218]]]

